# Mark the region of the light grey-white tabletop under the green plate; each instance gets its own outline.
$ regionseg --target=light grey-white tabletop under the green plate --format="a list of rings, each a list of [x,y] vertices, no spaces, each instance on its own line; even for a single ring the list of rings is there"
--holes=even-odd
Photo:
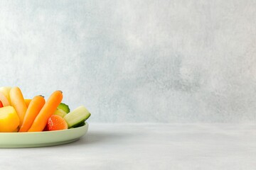
[[[256,169],[256,125],[90,124],[68,145],[0,149],[0,169]]]

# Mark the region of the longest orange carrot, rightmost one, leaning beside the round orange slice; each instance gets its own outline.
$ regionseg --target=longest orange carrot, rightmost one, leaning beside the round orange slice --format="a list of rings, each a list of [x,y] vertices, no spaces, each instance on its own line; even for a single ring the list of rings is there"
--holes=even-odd
[[[41,111],[36,116],[36,119],[33,121],[31,128],[28,132],[41,132],[46,127],[47,120],[51,115],[56,111],[58,105],[63,99],[62,91],[54,91],[52,95],[46,101],[46,104],[43,106]]]

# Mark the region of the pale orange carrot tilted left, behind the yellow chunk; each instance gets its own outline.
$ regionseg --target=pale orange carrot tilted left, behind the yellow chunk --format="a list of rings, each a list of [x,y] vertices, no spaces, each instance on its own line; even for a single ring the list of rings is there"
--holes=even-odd
[[[20,119],[20,127],[21,127],[26,110],[27,110],[26,103],[21,93],[21,89],[19,89],[18,87],[11,88],[10,99],[11,99],[11,106],[14,106],[16,112],[18,113],[18,118]]]

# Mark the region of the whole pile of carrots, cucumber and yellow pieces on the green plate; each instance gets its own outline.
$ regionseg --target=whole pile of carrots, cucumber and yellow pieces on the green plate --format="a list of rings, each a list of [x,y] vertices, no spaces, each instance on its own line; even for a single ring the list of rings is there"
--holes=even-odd
[[[85,106],[70,111],[62,99],[62,91],[54,91],[47,100],[40,95],[24,99],[18,87],[1,87],[0,132],[66,130],[85,125],[90,117]]]

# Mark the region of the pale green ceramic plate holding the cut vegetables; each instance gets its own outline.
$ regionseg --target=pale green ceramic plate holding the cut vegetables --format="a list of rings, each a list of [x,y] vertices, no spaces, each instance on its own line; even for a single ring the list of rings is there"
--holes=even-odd
[[[88,123],[82,127],[48,132],[0,132],[0,148],[48,147],[79,140],[88,131]]]

